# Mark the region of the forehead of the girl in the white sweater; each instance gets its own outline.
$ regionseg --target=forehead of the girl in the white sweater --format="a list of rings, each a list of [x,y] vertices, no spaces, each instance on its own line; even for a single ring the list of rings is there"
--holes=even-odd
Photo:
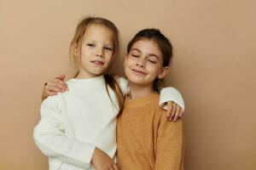
[[[86,31],[84,32],[84,39],[113,42],[113,31],[107,26],[91,24],[87,26]]]

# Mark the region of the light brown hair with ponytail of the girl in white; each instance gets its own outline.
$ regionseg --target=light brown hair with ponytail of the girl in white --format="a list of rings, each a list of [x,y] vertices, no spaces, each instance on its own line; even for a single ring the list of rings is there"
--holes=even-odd
[[[74,64],[76,65],[77,73],[75,77],[79,75],[79,65],[80,65],[80,57],[81,57],[81,46],[84,39],[84,33],[87,28],[91,25],[101,25],[106,26],[110,31],[113,32],[113,57],[111,61],[115,63],[116,60],[119,59],[119,30],[118,28],[111,22],[110,20],[103,19],[100,17],[87,17],[82,20],[79,25],[77,26],[77,30],[73,37],[73,40],[70,44],[70,57],[73,60]],[[77,54],[76,49],[79,49],[79,55]],[[119,88],[119,82],[117,77],[114,77],[112,74],[104,75],[106,90],[108,92],[108,86],[113,90],[114,94],[116,95],[119,103],[119,111],[123,110],[124,105],[124,95]],[[111,99],[110,94],[108,92],[109,99],[113,103],[113,99]],[[114,103],[113,103],[114,105]],[[114,105],[116,108],[117,106]]]

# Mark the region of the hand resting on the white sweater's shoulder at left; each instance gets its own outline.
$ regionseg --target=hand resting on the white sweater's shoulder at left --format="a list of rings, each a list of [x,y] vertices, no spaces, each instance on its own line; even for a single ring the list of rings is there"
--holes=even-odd
[[[48,96],[56,95],[58,92],[65,92],[68,90],[67,83],[64,82],[65,75],[61,75],[59,77],[55,77],[49,82],[45,83],[43,98],[47,98]]]

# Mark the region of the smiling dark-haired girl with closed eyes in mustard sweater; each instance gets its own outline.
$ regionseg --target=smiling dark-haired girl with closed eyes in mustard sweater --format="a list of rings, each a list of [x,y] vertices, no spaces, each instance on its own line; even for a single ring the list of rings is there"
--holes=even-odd
[[[183,169],[182,120],[168,122],[158,105],[158,83],[171,59],[172,44],[159,30],[139,31],[128,44],[124,65],[130,95],[117,126],[121,170]]]

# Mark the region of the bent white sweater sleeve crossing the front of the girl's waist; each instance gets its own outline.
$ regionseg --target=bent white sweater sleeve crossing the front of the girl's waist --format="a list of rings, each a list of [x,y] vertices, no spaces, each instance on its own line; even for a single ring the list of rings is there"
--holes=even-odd
[[[33,132],[34,141],[46,156],[56,157],[73,166],[89,168],[95,146],[67,138],[60,102],[60,95],[44,99],[41,121]]]

